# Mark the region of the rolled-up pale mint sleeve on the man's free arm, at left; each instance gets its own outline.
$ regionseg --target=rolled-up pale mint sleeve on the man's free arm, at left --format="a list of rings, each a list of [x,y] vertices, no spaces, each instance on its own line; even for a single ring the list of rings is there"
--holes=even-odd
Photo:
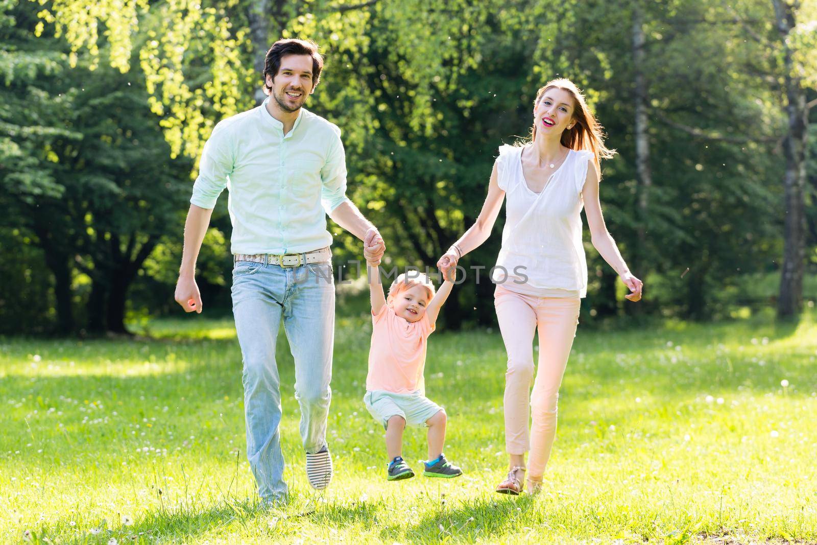
[[[233,172],[234,154],[225,126],[218,123],[204,144],[199,162],[199,177],[193,185],[190,203],[201,208],[214,208],[221,191],[227,186],[227,176]]]

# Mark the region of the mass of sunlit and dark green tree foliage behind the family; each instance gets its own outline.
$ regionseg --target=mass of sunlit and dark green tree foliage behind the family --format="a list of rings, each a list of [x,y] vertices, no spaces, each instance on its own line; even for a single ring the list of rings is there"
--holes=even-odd
[[[350,195],[381,226],[389,258],[400,265],[433,266],[478,214],[498,145],[528,132],[537,88],[555,76],[573,79],[618,150],[603,164],[609,229],[651,288],[645,309],[663,314],[724,312],[719,293],[779,266],[789,211],[782,183],[790,167],[787,89],[797,86],[809,105],[817,98],[815,0],[101,0],[92,7],[0,0],[0,7],[2,47],[10,53],[0,58],[7,99],[0,105],[0,172],[10,191],[3,198],[17,203],[17,222],[27,225],[26,203],[74,199],[78,187],[78,194],[94,194],[83,201],[94,212],[65,216],[60,231],[73,241],[62,247],[78,252],[74,262],[88,278],[116,261],[110,248],[122,255],[130,248],[135,258],[136,248],[158,245],[146,270],[154,282],[171,282],[158,270],[177,258],[181,230],[167,235],[141,221],[149,210],[163,218],[173,207],[183,213],[186,172],[173,171],[175,183],[167,168],[140,173],[132,165],[165,154],[152,163],[192,161],[195,176],[215,123],[256,103],[259,56],[282,36],[312,38],[323,48],[322,83],[308,107],[342,127]],[[9,23],[12,11],[41,36],[36,45]],[[781,20],[791,23],[785,32]],[[43,76],[66,71],[73,82],[66,92],[40,87]],[[83,82],[85,95],[76,91]],[[86,101],[91,95],[96,102]],[[114,104],[123,110],[110,123],[72,111]],[[46,115],[51,109],[61,123]],[[123,124],[144,135],[141,145],[114,136]],[[150,141],[155,127],[167,147]],[[96,146],[82,144],[89,136]],[[806,147],[813,146],[812,139]],[[66,150],[74,147],[91,155],[70,159]],[[127,151],[120,163],[105,163],[113,150]],[[169,184],[168,193],[153,195],[158,200],[140,193],[151,178]],[[817,187],[808,179],[806,203]],[[112,206],[122,216],[106,223],[100,209]],[[804,220],[809,248],[812,212]],[[221,209],[213,221],[217,255],[229,224]],[[116,233],[112,225],[130,230]],[[357,257],[359,244],[334,230],[338,256]],[[108,249],[94,242],[123,235]],[[585,310],[622,312],[614,274],[588,250]],[[467,260],[489,267],[497,251],[493,237]],[[814,250],[808,255],[813,267]],[[207,277],[216,291],[226,284],[215,270]],[[491,297],[484,279],[458,289],[445,308],[449,323],[464,315],[493,321],[490,306],[477,304]]]

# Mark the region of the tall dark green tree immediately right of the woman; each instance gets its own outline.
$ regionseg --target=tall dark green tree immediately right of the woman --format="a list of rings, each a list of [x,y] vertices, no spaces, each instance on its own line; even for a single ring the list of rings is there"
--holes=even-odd
[[[736,59],[738,26],[707,2],[635,0],[578,11],[560,39],[619,152],[602,200],[648,310],[708,318],[718,288],[774,256],[775,224],[752,218],[774,201],[779,116],[757,123],[771,93]]]

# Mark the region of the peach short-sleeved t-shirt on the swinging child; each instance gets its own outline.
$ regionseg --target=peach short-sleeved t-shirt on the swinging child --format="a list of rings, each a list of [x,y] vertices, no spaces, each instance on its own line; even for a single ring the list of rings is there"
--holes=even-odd
[[[383,305],[372,315],[372,346],[368,351],[366,390],[396,394],[425,392],[422,371],[426,366],[426,339],[434,331],[428,315],[409,322]]]

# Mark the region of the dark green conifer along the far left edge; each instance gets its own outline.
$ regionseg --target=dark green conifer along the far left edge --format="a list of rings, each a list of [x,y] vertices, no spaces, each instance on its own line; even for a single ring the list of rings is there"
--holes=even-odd
[[[0,315],[9,330],[48,329],[48,308],[56,305],[56,327],[67,332],[74,328],[74,311],[71,245],[65,239],[73,227],[60,227],[59,242],[39,228],[38,218],[47,214],[40,203],[59,200],[64,192],[54,172],[56,142],[78,141],[82,135],[61,123],[67,101],[50,84],[65,69],[65,55],[55,41],[32,38],[30,30],[36,24],[29,2],[0,2],[0,208],[4,211],[0,260],[7,270]],[[42,252],[33,251],[31,243]],[[53,283],[42,275],[42,261],[51,270]]]

